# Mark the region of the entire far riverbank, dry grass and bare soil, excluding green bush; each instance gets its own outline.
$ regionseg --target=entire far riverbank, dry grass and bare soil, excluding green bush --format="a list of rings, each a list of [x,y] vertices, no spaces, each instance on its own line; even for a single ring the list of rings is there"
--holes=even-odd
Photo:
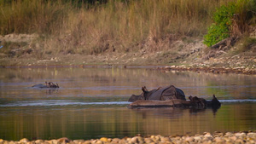
[[[255,3],[237,2],[241,14],[231,14],[233,0],[128,2],[0,3],[0,67],[166,66],[255,74]],[[233,15],[219,15],[232,21],[224,22],[230,37],[209,48],[205,37],[220,8]]]

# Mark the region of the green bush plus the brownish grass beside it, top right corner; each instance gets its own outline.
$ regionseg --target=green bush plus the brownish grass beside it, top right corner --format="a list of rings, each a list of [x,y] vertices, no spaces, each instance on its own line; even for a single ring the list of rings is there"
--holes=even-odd
[[[253,0],[238,0],[216,9],[213,14],[214,23],[208,27],[204,43],[208,47],[224,38],[237,37],[247,32],[248,25],[253,22],[256,2]],[[255,23],[255,20],[254,22]]]

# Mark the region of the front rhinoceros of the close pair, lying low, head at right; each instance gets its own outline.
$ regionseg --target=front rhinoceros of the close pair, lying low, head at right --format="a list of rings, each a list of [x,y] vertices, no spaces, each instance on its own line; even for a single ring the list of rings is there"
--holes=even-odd
[[[206,101],[203,98],[190,97],[190,101],[181,99],[171,99],[166,101],[155,101],[155,100],[138,100],[132,102],[129,107],[197,107],[197,108],[218,108],[221,106],[215,95],[212,96],[212,101]],[[195,99],[194,99],[195,98]],[[198,100],[201,99],[201,100]],[[202,105],[202,102],[204,105]]]

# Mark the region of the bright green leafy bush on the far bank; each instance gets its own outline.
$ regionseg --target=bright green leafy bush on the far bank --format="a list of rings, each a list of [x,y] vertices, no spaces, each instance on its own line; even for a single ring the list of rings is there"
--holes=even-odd
[[[229,3],[227,6],[221,6],[213,14],[214,23],[208,27],[208,33],[204,37],[204,43],[208,47],[230,37],[230,26],[232,25],[232,17],[236,12],[235,3]]]

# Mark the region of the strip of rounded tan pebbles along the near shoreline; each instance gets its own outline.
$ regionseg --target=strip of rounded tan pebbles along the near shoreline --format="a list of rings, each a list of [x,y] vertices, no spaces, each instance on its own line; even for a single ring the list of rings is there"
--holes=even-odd
[[[222,143],[256,143],[256,131],[241,131],[237,133],[231,132],[205,132],[201,135],[151,135],[143,137],[137,135],[134,137],[119,138],[107,138],[102,137],[94,140],[70,140],[67,137],[62,137],[57,140],[36,140],[29,141],[26,138],[20,141],[4,141],[0,139],[0,144],[106,144],[106,143],[204,143],[204,144],[222,144]]]

